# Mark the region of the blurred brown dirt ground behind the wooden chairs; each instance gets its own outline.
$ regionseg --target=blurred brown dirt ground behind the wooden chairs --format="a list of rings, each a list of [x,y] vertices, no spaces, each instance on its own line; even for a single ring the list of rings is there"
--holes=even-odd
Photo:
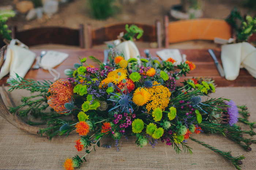
[[[15,0],[0,1],[1,5],[9,5],[13,4]],[[242,7],[242,2],[243,0],[204,0],[203,17],[225,19],[234,7],[237,7],[238,10],[241,11],[242,15],[250,13],[253,16],[256,12]],[[120,11],[115,16],[110,17],[107,20],[95,20],[89,15],[87,0],[73,0],[68,4],[61,5],[59,7],[59,12],[50,18],[44,15],[41,20],[36,19],[26,21],[25,15],[17,13],[16,17],[10,19],[7,24],[16,25],[18,31],[20,31],[33,27],[53,25],[78,28],[80,23],[85,26],[87,23],[90,23],[93,28],[99,28],[105,24],[125,21],[155,24],[155,20],[160,20],[163,30],[164,16],[168,14],[172,5],[179,3],[180,0],[135,0],[135,3],[128,3],[127,0],[119,0],[118,5],[120,6]],[[85,42],[87,42],[87,39]],[[172,45],[174,48],[193,48],[193,46],[198,46],[197,48],[204,48],[206,44],[209,44],[210,47],[211,45],[213,45],[212,47],[217,47],[215,44],[208,41],[192,41]],[[138,46],[144,47],[144,45]]]

